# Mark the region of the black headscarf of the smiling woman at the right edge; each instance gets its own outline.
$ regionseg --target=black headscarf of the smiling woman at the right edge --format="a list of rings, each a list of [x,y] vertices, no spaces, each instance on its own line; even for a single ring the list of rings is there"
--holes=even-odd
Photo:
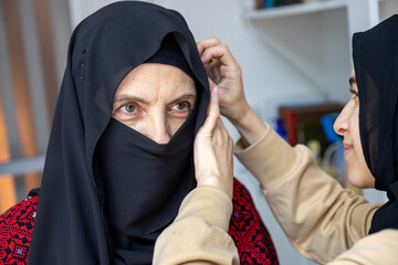
[[[354,34],[353,57],[365,160],[389,200],[376,211],[369,233],[398,229],[398,15]]]

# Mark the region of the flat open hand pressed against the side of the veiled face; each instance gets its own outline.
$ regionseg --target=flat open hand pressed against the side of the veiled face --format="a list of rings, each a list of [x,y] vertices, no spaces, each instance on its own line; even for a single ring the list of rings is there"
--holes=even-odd
[[[211,89],[208,116],[193,146],[195,174],[198,187],[211,186],[232,199],[233,140],[220,119],[218,87]]]

